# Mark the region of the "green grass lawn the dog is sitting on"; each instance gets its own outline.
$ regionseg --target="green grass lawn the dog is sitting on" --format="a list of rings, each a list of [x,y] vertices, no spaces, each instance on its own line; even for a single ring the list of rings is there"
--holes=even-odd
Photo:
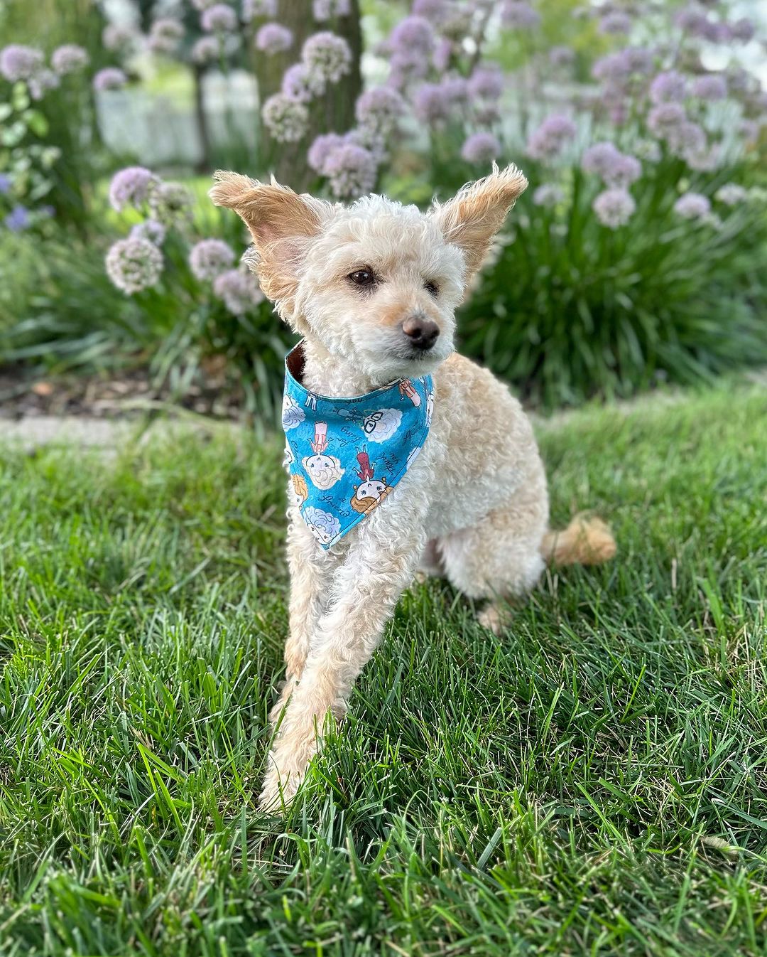
[[[408,592],[286,819],[279,442],[6,452],[0,953],[765,954],[767,395],[540,428],[620,555]]]

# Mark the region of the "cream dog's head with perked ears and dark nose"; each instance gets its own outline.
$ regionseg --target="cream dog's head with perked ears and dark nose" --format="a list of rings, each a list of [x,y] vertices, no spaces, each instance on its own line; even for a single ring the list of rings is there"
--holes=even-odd
[[[427,212],[383,196],[343,207],[219,172],[210,198],[239,213],[264,294],[296,333],[373,382],[421,376],[452,351],[455,309],[527,180],[516,167]]]

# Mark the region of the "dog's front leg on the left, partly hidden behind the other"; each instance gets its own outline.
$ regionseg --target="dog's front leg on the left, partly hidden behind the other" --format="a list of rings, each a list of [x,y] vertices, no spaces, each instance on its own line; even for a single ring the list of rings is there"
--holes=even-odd
[[[290,699],[296,681],[301,677],[312,635],[317,630],[319,618],[327,609],[333,572],[342,560],[342,556],[319,547],[297,508],[290,510],[289,519],[289,632],[285,642],[285,683],[269,715],[269,722],[273,726]]]

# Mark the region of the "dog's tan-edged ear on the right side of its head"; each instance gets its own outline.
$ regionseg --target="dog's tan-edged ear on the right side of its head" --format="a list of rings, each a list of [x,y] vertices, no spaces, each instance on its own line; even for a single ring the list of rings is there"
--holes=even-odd
[[[515,166],[498,169],[475,183],[467,183],[447,203],[434,203],[433,217],[449,243],[466,256],[468,276],[479,269],[491,240],[503,225],[517,196],[527,189],[527,179]]]

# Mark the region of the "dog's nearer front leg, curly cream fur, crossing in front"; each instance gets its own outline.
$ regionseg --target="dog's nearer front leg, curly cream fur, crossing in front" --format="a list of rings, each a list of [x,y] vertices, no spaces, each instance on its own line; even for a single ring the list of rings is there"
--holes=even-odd
[[[426,536],[423,511],[392,507],[370,516],[334,576],[335,600],[322,614],[293,698],[279,726],[259,804],[293,799],[317,751],[328,712],[337,717],[373,654],[402,591],[412,581]],[[414,504],[410,502],[410,504]],[[377,521],[378,520],[378,521]],[[394,524],[392,524],[394,522]]]

